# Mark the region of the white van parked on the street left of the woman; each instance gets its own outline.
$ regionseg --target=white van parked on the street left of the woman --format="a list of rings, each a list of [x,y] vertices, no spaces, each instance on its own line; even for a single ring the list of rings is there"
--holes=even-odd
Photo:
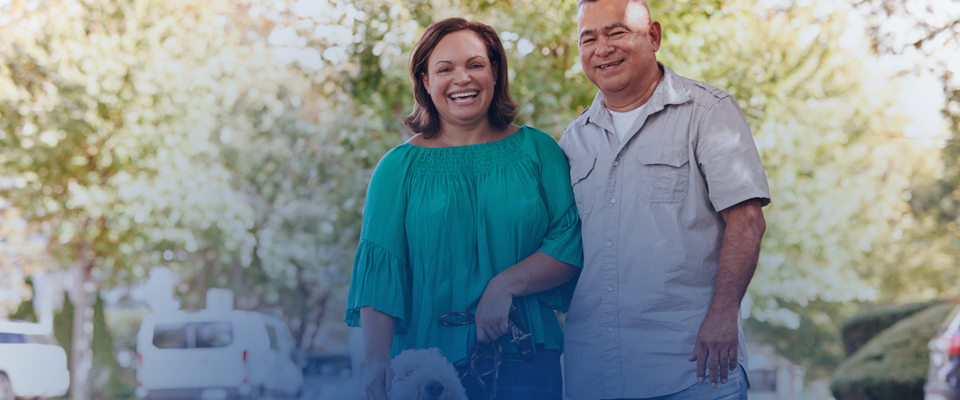
[[[285,323],[252,311],[144,316],[136,335],[136,395],[166,399],[296,398],[303,384]]]

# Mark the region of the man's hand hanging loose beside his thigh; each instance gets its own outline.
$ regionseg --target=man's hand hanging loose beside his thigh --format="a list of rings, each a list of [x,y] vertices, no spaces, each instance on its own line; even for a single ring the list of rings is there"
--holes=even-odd
[[[705,381],[706,368],[710,368],[710,388],[717,387],[717,377],[721,384],[727,384],[730,371],[736,369],[736,351],[738,347],[736,330],[737,313],[729,316],[707,314],[704,323],[697,332],[697,343],[693,346],[693,355],[687,361],[697,362],[697,382]]]

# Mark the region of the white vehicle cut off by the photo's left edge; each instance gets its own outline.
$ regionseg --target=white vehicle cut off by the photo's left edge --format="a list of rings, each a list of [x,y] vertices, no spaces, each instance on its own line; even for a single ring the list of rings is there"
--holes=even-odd
[[[66,352],[49,327],[0,319],[0,400],[58,397],[69,387]]]

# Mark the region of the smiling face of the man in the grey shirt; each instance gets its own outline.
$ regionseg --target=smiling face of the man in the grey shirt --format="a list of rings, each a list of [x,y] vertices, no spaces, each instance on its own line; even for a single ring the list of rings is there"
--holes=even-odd
[[[602,92],[641,90],[641,78],[656,68],[660,22],[650,21],[631,0],[584,3],[577,13],[580,60],[587,79]]]

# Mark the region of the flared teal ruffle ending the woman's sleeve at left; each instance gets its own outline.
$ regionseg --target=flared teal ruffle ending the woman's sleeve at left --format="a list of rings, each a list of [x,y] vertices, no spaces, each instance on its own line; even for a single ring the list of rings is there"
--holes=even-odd
[[[353,259],[345,321],[360,326],[360,307],[396,317],[397,332],[406,332],[410,310],[409,272],[405,260],[368,241],[361,241]]]

